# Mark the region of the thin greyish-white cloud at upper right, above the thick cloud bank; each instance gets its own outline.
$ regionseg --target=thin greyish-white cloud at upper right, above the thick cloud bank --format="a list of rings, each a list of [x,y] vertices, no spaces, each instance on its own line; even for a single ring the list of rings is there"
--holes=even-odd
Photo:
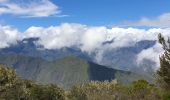
[[[125,21],[123,26],[170,27],[170,13],[164,13],[155,18],[143,17],[138,21]]]

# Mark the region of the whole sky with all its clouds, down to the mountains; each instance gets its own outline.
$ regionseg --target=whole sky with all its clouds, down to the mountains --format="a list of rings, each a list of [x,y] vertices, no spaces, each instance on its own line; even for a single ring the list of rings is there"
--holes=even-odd
[[[169,0],[0,0],[0,48],[36,37],[35,44],[45,49],[97,52],[100,62],[107,50],[157,41],[159,33],[170,36],[169,5]],[[156,43],[137,54],[137,61],[159,64],[162,52]]]

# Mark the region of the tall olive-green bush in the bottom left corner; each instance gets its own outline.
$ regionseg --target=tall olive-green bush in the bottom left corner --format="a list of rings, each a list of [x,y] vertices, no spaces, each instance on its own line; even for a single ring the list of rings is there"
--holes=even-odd
[[[23,80],[20,80],[16,72],[4,65],[0,65],[0,99],[27,100],[29,91]]]

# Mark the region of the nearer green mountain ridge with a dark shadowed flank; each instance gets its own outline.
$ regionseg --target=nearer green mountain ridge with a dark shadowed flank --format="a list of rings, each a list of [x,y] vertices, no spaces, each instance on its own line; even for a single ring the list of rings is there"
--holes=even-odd
[[[74,56],[64,57],[56,61],[47,61],[14,53],[1,53],[0,63],[13,67],[23,78],[36,80],[44,84],[57,83],[66,88],[92,80],[110,81],[117,79],[118,82],[127,84],[144,77],[131,72],[101,66]]]

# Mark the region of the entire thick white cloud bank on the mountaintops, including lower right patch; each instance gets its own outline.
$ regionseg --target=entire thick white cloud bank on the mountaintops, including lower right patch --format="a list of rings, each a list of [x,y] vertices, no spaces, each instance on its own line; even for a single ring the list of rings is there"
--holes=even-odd
[[[97,60],[103,57],[106,50],[133,47],[137,42],[144,40],[156,41],[158,33],[170,36],[170,28],[107,28],[105,26],[87,26],[75,23],[63,23],[59,26],[28,28],[21,33],[10,26],[0,26],[0,48],[15,44],[17,40],[38,37],[37,45],[45,49],[61,49],[63,47],[77,47],[88,54],[98,52]],[[149,59],[159,63],[159,55],[162,53],[161,45],[156,43],[153,47],[144,49],[137,55],[140,63]],[[157,65],[158,66],[158,65]]]

